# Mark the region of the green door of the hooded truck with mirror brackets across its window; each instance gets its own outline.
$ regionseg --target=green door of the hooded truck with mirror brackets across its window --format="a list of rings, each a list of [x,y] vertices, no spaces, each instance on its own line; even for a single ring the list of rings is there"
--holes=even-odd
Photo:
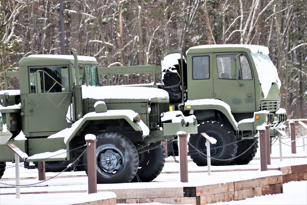
[[[71,127],[71,117],[66,117],[71,104],[68,66],[29,68],[29,83],[29,132],[55,132]]]

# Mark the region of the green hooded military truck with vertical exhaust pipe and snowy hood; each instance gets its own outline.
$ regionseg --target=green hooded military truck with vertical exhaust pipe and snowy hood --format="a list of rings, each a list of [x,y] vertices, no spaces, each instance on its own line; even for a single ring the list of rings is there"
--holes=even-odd
[[[20,90],[0,91],[1,176],[14,162],[13,143],[28,162],[45,161],[46,171],[84,165],[85,136],[97,138],[97,182],[153,180],[165,162],[161,141],[197,133],[195,116],[169,111],[169,96],[155,87],[100,86],[94,57],[30,55],[19,61]],[[34,163],[34,164],[35,164]]]

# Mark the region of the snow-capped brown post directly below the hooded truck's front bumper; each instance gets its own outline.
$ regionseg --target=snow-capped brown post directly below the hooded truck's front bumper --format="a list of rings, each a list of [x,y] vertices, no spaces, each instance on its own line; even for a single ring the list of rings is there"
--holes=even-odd
[[[188,182],[188,134],[179,134],[180,181]]]

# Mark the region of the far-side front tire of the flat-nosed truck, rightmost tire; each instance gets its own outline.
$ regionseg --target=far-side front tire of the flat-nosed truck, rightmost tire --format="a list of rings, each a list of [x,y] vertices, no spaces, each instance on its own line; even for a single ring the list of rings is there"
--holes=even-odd
[[[257,142],[255,143],[255,141]],[[255,144],[251,147],[253,143]],[[253,160],[253,158],[255,157],[257,148],[259,147],[257,138],[255,137],[254,139],[251,139],[251,140],[242,140],[242,141],[238,140],[237,144],[238,144],[238,149],[237,149],[237,153],[235,156],[239,156],[240,154],[245,152],[249,147],[251,148],[247,150],[247,152],[245,152],[243,155],[235,158],[231,162],[231,164],[244,165],[244,164],[250,163],[250,161]]]

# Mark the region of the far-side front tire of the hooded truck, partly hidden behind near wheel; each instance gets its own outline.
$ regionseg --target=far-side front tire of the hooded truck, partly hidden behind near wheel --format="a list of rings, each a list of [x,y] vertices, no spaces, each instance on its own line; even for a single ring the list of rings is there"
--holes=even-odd
[[[150,151],[138,154],[138,172],[137,175],[141,182],[150,182],[155,179],[162,171],[165,163],[165,150],[163,145]],[[133,182],[137,182],[134,177]]]

